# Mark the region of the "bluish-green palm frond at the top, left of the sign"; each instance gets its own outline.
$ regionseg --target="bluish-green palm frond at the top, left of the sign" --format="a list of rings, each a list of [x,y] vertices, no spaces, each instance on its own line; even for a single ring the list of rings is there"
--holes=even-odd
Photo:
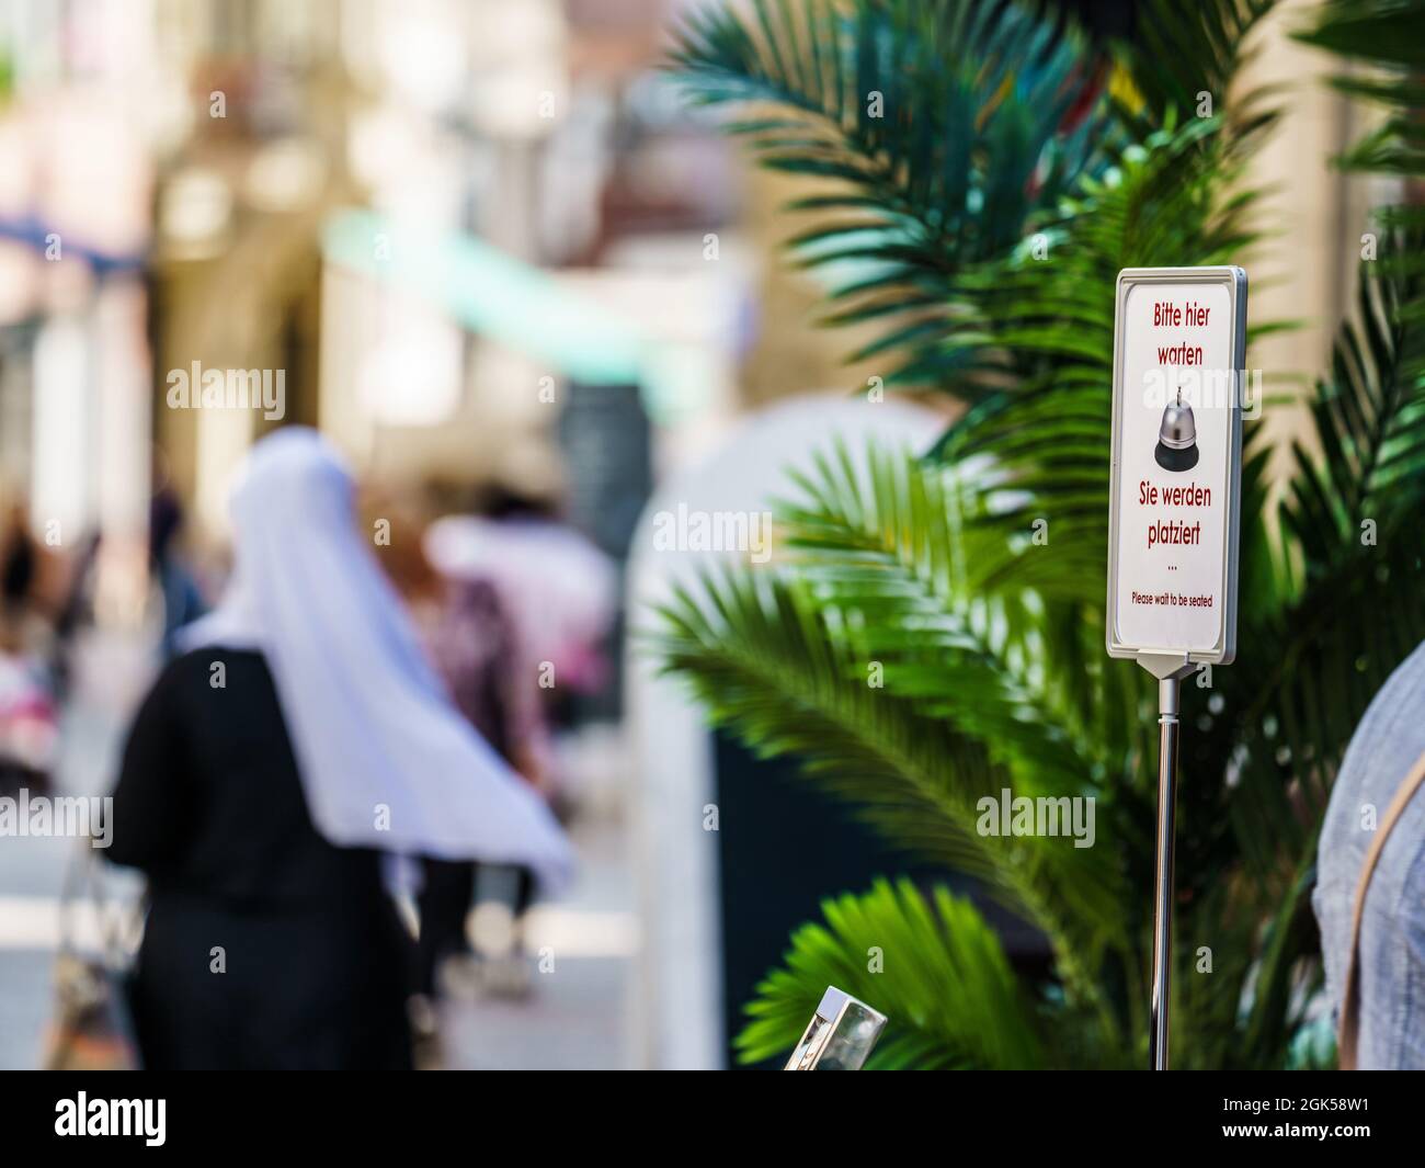
[[[1026,221],[1102,167],[1110,123],[1082,37],[1013,4],[752,0],[683,27],[673,64],[758,163],[828,183],[792,203],[789,241],[834,285],[834,324],[885,321],[856,357],[919,348],[943,325],[949,277],[1002,255]],[[923,381],[902,362],[886,384]]]

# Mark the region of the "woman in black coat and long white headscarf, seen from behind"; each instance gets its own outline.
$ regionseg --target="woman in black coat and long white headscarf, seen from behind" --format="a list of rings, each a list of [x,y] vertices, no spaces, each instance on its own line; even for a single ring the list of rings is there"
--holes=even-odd
[[[380,853],[570,870],[543,801],[452,707],[312,431],[261,441],[237,560],[130,733],[110,859],[151,907],[147,1065],[402,1067],[405,938]]]

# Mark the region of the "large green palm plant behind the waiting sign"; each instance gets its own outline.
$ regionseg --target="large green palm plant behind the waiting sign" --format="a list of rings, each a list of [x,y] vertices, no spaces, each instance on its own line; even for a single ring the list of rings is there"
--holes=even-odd
[[[889,1015],[871,1067],[1143,1065],[1156,693],[1103,649],[1113,285],[1263,247],[1244,163],[1277,111],[1234,81],[1271,7],[1149,3],[1107,46],[1053,6],[972,0],[751,0],[680,31],[694,100],[738,107],[727,128],[762,165],[819,183],[789,248],[834,275],[832,324],[876,328],[855,357],[960,412],[929,452],[826,451],[779,505],[794,558],[680,595],[651,652],[715,724],[976,877],[1053,953],[1026,980],[970,900],[888,874],[789,938],[747,1007],[748,1061],[785,1055],[834,984]],[[1367,66],[1337,84],[1387,108],[1338,163],[1419,177],[1425,4],[1327,3],[1298,36]],[[1425,637],[1425,211],[1374,230],[1312,432],[1277,451],[1248,422],[1244,649],[1184,683],[1180,1067],[1334,1057],[1318,824],[1357,720]],[[1093,797],[1096,844],[979,833],[1006,789]]]

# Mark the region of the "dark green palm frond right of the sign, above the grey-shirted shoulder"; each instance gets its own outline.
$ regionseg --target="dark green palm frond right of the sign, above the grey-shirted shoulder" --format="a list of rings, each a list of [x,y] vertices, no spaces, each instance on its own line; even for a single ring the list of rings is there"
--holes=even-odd
[[[1217,757],[1230,752],[1233,789],[1221,811],[1231,837],[1218,837],[1217,856],[1238,856],[1250,873],[1238,901],[1274,913],[1237,1048],[1250,1065],[1271,1064],[1301,1021],[1287,1003],[1300,1003],[1298,965],[1315,957],[1308,896],[1337,767],[1371,699],[1425,640],[1425,328],[1416,315],[1425,280],[1394,262],[1419,247],[1418,234],[1398,232],[1379,261],[1361,267],[1357,314],[1308,402],[1315,441],[1292,445],[1278,605],[1258,606],[1243,633],[1244,645],[1273,650],[1244,655],[1223,675],[1213,729]],[[1264,528],[1255,535],[1258,545],[1267,538]],[[1190,851],[1188,864],[1214,870],[1206,850]]]

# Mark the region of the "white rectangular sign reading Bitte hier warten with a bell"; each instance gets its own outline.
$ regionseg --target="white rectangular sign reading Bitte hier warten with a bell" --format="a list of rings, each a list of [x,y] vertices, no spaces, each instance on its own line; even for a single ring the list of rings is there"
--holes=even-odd
[[[1107,647],[1237,652],[1247,272],[1124,268],[1113,329]]]

